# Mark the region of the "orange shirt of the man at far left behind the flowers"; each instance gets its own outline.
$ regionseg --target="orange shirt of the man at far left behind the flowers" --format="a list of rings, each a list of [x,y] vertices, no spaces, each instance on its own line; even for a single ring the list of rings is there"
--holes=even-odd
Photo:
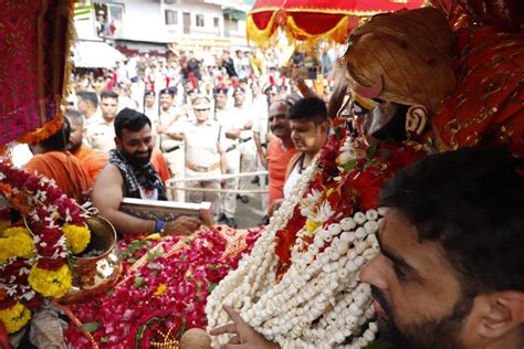
[[[25,170],[54,179],[56,186],[76,202],[84,202],[84,192],[93,180],[80,161],[69,151],[48,151],[35,155],[25,163]]]

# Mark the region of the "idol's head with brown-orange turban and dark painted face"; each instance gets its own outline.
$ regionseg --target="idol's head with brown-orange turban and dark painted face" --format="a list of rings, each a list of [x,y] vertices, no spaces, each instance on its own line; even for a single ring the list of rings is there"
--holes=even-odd
[[[412,25],[406,32],[402,23]],[[436,9],[376,15],[355,29],[344,56],[343,116],[365,144],[417,138],[454,86],[451,31]]]

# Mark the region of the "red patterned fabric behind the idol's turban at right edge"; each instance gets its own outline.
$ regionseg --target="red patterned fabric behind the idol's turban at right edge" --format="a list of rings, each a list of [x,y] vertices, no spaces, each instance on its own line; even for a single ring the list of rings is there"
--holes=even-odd
[[[458,84],[434,117],[452,149],[524,148],[524,36],[483,27],[459,35]]]

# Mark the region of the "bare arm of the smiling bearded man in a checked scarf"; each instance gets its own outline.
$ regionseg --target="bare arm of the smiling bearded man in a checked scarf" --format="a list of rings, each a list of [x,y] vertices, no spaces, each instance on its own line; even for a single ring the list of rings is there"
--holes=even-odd
[[[91,194],[93,205],[102,216],[107,219],[120,234],[155,233],[156,221],[144,220],[119,211],[124,199],[124,179],[114,165],[107,165],[96,178]],[[201,224],[200,220],[189,216],[166,222],[164,230],[167,234],[188,234]]]

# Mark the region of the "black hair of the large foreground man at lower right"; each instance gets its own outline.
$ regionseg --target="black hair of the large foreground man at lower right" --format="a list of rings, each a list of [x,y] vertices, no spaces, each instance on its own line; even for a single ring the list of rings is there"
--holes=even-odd
[[[419,241],[437,241],[470,293],[524,290],[524,159],[463,148],[398,171],[380,205],[398,209]]]

